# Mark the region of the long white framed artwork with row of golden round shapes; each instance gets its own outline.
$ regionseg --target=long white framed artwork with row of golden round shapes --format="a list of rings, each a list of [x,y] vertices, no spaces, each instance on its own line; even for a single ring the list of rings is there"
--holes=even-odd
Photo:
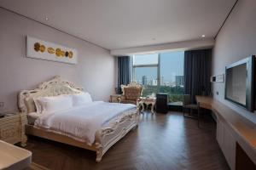
[[[26,57],[68,64],[77,64],[77,50],[35,37],[26,37]]]

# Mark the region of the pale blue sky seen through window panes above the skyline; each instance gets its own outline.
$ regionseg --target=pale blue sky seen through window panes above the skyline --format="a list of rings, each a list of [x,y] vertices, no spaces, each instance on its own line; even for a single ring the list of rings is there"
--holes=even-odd
[[[143,54],[135,55],[134,64],[143,65],[143,64],[157,64],[158,54]],[[160,77],[164,77],[164,82],[174,82],[175,76],[183,76],[183,60],[184,52],[183,51],[173,51],[160,53]],[[138,79],[141,79],[143,76],[147,76],[150,79],[157,77],[157,68],[156,67],[137,67],[135,69],[135,74]]]

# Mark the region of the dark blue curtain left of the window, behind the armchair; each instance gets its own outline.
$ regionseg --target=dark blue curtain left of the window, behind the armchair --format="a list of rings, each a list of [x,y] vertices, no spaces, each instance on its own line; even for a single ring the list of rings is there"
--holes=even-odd
[[[131,59],[130,56],[118,57],[118,88],[117,94],[121,94],[121,84],[127,85],[131,82]]]

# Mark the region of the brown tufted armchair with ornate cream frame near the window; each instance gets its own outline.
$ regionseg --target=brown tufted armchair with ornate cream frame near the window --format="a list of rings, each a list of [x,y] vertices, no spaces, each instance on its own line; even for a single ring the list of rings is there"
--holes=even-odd
[[[119,102],[123,104],[137,105],[137,99],[141,97],[143,93],[143,87],[137,82],[131,82],[127,86],[121,85],[122,95],[119,98]]]

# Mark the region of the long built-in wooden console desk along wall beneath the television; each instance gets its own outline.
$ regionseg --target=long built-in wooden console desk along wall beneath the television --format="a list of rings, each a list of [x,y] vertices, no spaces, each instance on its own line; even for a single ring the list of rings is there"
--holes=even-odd
[[[201,108],[212,110],[216,115],[216,138],[230,168],[232,170],[256,169],[256,124],[216,99],[206,96],[196,96],[195,98]],[[240,154],[237,154],[240,153],[237,151],[237,148],[240,147],[249,160],[244,161],[245,156],[241,157]]]

